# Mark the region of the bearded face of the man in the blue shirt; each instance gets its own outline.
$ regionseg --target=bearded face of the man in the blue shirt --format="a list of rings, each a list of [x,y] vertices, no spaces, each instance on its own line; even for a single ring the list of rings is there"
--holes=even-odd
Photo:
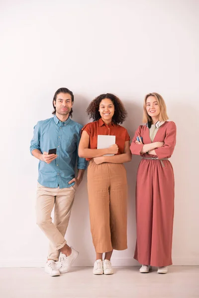
[[[59,93],[56,101],[54,100],[54,106],[56,107],[56,114],[68,115],[73,106],[71,95],[69,93]]]

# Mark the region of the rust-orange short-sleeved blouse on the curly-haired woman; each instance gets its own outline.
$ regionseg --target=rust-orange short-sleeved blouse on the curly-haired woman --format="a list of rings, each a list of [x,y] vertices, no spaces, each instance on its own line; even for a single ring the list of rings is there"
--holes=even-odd
[[[130,141],[129,134],[124,127],[113,122],[107,125],[101,118],[86,124],[82,131],[86,131],[90,136],[89,149],[97,149],[98,135],[115,136],[115,143],[119,148],[117,154],[122,154],[125,142]],[[86,159],[90,160],[91,158]]]

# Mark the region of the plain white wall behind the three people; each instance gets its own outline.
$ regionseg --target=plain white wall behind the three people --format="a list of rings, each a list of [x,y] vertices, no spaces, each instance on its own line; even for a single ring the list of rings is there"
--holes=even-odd
[[[37,160],[29,153],[33,126],[51,117],[62,86],[75,93],[74,120],[86,124],[90,101],[113,92],[124,102],[131,138],[148,92],[165,99],[178,128],[171,158],[176,179],[173,263],[199,265],[199,1],[1,0],[0,266],[40,266],[48,240],[35,224]],[[128,249],[113,265],[137,265],[135,179],[139,157],[126,165]],[[93,264],[86,175],[67,240],[76,265]]]

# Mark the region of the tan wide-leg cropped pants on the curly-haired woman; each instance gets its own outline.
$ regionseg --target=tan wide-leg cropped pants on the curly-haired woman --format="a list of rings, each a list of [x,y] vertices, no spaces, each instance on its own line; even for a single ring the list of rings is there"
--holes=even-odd
[[[122,163],[88,166],[90,222],[96,252],[127,248],[127,180]]]

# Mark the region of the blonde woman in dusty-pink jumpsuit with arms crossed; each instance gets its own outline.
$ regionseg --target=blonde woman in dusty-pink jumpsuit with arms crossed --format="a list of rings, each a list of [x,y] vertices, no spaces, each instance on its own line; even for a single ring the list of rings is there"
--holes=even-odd
[[[174,172],[168,158],[176,145],[176,125],[167,121],[164,99],[149,93],[144,99],[143,122],[132,140],[132,154],[142,156],[137,171],[137,242],[134,258],[141,273],[151,266],[167,273],[172,265],[174,219]]]

